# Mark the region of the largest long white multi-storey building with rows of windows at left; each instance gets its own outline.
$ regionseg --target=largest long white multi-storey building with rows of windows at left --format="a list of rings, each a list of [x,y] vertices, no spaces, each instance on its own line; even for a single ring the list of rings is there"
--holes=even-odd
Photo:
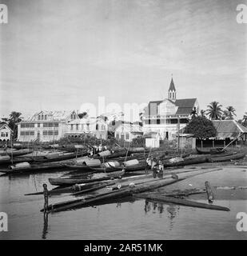
[[[18,122],[18,141],[55,141],[66,134],[67,123],[77,119],[73,111],[40,111],[32,117]]]

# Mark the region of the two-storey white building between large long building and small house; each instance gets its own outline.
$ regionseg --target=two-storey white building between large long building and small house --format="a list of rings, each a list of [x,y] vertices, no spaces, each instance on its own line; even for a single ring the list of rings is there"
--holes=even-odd
[[[66,137],[80,138],[91,134],[99,139],[107,139],[107,123],[102,118],[81,118],[67,123]]]

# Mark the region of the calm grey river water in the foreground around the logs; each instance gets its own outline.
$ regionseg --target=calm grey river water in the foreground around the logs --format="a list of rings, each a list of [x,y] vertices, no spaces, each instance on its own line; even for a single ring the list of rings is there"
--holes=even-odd
[[[207,180],[212,186],[221,186],[215,190],[213,204],[229,207],[229,212],[124,198],[49,214],[47,219],[40,212],[43,196],[24,194],[41,191],[43,182],[59,174],[0,177],[0,211],[8,214],[8,232],[0,232],[0,239],[247,239],[247,232],[236,228],[237,213],[247,214],[247,190],[226,187],[247,186],[246,168],[228,166],[159,189],[204,188]],[[56,196],[50,202],[67,198]],[[207,202],[206,194],[189,199]]]

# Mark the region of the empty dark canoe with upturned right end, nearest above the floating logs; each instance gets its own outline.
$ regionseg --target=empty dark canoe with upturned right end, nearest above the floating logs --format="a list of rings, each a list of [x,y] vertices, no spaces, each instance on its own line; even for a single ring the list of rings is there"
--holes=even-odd
[[[119,178],[125,174],[125,171],[117,171],[107,174],[105,177],[102,178],[49,178],[49,182],[51,185],[54,186],[68,186],[74,185],[79,183],[90,183],[90,182],[102,182],[110,180],[111,178]]]

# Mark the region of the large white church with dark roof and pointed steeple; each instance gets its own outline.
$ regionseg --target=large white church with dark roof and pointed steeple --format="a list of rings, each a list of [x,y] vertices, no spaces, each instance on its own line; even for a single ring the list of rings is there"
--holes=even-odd
[[[168,98],[151,101],[145,107],[142,125],[144,134],[157,134],[161,139],[176,138],[178,130],[186,126],[192,110],[199,113],[197,98],[177,99],[177,90],[171,79]]]

